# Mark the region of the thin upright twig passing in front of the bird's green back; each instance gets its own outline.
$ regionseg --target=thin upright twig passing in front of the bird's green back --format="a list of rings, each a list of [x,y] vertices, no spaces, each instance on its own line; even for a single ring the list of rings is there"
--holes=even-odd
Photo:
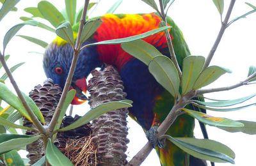
[[[159,0],[159,4],[160,4],[160,8],[161,8],[161,17],[163,19],[163,21],[165,22],[166,26],[168,26],[167,24],[167,20],[166,20],[166,13],[164,12],[164,5],[163,5],[163,1]],[[172,26],[172,25],[171,25]],[[173,61],[173,64],[175,65],[178,73],[179,73],[179,78],[181,79],[182,73],[180,70],[180,66],[179,63],[177,61],[177,57],[175,55],[174,49],[173,49],[173,44],[172,44],[172,39],[170,38],[170,32],[168,30],[164,31],[165,36],[166,36],[166,40],[167,40],[167,45],[168,45],[168,49],[171,55],[171,59]]]

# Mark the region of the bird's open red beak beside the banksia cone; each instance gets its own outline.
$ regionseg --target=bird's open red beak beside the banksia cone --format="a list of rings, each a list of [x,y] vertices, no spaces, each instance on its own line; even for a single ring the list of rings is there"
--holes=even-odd
[[[87,100],[87,97],[83,94],[87,91],[87,84],[85,78],[77,79],[75,82],[72,82],[70,88],[76,90],[76,96],[71,102],[72,105],[79,105]]]

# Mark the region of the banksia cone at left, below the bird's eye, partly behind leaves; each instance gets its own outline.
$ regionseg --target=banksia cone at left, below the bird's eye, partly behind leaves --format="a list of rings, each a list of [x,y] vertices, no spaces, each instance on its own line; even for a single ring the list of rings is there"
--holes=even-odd
[[[35,86],[35,88],[30,91],[29,97],[34,100],[40,111],[42,112],[45,125],[48,125],[52,119],[54,111],[58,105],[61,96],[61,87],[57,84],[53,84],[51,79],[47,79],[44,85]],[[23,119],[24,126],[33,126],[33,123],[28,121],[28,119]],[[38,132],[27,130],[26,135],[38,135]],[[44,144],[42,139],[36,140],[32,144],[26,146],[29,152],[27,157],[30,160],[30,164],[37,162],[42,156],[44,156]]]

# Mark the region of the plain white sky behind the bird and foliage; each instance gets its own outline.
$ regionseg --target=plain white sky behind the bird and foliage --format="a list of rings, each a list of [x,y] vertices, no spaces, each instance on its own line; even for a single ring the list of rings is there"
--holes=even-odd
[[[19,20],[20,16],[29,16],[29,14],[22,11],[22,8],[36,6],[37,2],[38,1],[20,1],[18,5],[19,11],[9,13],[8,16],[0,22],[1,40],[3,40],[4,34],[8,29],[10,29],[10,27],[21,22]],[[103,0],[100,10],[97,10],[95,13],[97,13],[97,15],[104,14],[108,10],[109,6],[114,2],[114,0]],[[231,19],[251,10],[251,8],[244,4],[244,2],[245,1],[236,2]],[[256,5],[253,0],[248,0],[246,2]],[[54,1],[53,3],[56,4],[60,10],[64,8],[64,1]],[[82,4],[83,1],[79,1],[79,3]],[[225,1],[224,13],[227,11],[228,3],[229,1]],[[122,3],[120,8],[116,10],[116,13],[147,13],[152,11],[153,10],[150,7],[141,3],[140,0],[124,0],[124,3]],[[170,8],[168,15],[175,20],[184,33],[191,53],[193,55],[206,57],[214,43],[221,25],[220,16],[218,15],[218,11],[212,1],[176,0]],[[221,77],[218,82],[211,84],[208,87],[222,87],[239,82],[246,78],[248,67],[250,65],[256,66],[255,29],[256,13],[250,15],[247,19],[239,20],[232,24],[232,26],[228,27],[211,64],[229,68],[233,73]],[[38,28],[29,26],[24,27],[19,34],[29,34],[30,36],[38,37],[48,42],[54,38],[52,33],[41,31]],[[0,48],[3,48],[2,44]],[[3,49],[1,49],[1,51],[3,52]],[[29,52],[42,53],[44,52],[44,49],[30,43],[29,41],[25,41],[22,38],[15,37],[10,42],[8,49],[6,50],[6,54],[11,55],[10,60],[8,61],[10,66],[20,62],[26,62],[26,64],[20,67],[19,70],[13,74],[20,89],[26,93],[28,93],[36,84],[42,84],[46,79],[42,68],[42,55]],[[3,73],[2,70],[0,72]],[[8,84],[8,86],[10,86],[10,84]],[[255,86],[246,86],[228,92],[207,94],[207,96],[218,99],[232,99],[255,93],[255,91]],[[255,98],[253,98],[251,102],[255,102]],[[84,112],[79,112],[79,110],[85,110],[84,107],[88,109],[88,106],[86,105],[76,107],[75,114],[83,114]],[[256,121],[255,109],[255,107],[250,107],[236,112],[209,112],[209,114],[212,116],[228,117],[235,120],[243,119],[247,121]],[[129,149],[127,153],[131,158],[140,150],[141,147],[144,146],[147,139],[145,139],[143,131],[136,123],[129,121],[129,127],[129,139],[131,142],[128,144]],[[209,126],[207,126],[207,128],[211,139],[226,144],[234,150],[236,153],[236,165],[256,165],[254,160],[256,149],[255,135],[228,133]],[[198,129],[195,130],[195,133],[196,137],[202,138]],[[156,153],[153,151],[142,165],[160,165]],[[216,163],[216,165],[228,166],[232,164]]]

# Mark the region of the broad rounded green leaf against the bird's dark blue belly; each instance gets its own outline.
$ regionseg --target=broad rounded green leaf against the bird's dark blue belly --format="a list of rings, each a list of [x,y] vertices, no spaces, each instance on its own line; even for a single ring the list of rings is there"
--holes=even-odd
[[[148,65],[149,72],[169,93],[177,98],[180,79],[175,65],[166,56],[156,56]]]

